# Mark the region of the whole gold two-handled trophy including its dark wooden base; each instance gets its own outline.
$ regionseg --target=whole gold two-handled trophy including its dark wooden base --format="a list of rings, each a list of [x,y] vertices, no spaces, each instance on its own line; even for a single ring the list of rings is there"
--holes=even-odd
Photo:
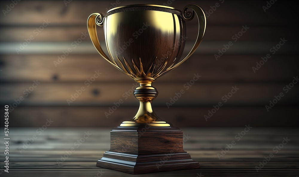
[[[192,20],[195,13],[197,39],[181,59],[185,21]],[[104,28],[110,58],[100,46],[96,25]],[[140,101],[137,114],[110,131],[110,150],[97,161],[97,167],[131,174],[200,168],[183,150],[183,132],[159,118],[151,102],[158,95],[152,83],[186,61],[201,43],[206,27],[203,10],[196,4],[187,5],[183,11],[152,4],[127,5],[109,10],[105,16],[91,14],[87,27],[100,55],[140,84],[134,90]]]

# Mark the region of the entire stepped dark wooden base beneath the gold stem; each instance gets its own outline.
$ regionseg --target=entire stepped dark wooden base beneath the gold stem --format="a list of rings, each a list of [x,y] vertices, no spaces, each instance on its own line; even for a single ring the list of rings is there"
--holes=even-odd
[[[183,131],[177,127],[115,127],[110,150],[97,167],[131,174],[200,168],[183,150]]]

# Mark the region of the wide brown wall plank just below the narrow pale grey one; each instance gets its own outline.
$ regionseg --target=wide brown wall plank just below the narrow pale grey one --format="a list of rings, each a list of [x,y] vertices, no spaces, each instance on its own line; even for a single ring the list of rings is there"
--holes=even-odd
[[[274,54],[256,70],[256,62],[266,55],[228,55],[216,60],[213,55],[194,54],[186,62],[158,78],[156,83],[187,82],[193,74],[199,74],[198,82],[291,82],[298,75],[299,65],[296,55]],[[128,82],[132,79],[121,74],[99,54],[67,56],[59,64],[58,55],[1,55],[2,82],[28,82],[39,80],[49,82],[84,83],[94,75],[102,73],[94,82]]]

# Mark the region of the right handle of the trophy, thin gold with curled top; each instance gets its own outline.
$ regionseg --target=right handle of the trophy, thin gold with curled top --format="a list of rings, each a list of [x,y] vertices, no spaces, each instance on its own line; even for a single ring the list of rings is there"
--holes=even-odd
[[[192,10],[192,12],[187,12],[187,9],[190,8]],[[189,52],[189,54],[180,62],[178,62],[176,65],[174,65],[173,67],[169,68],[169,70],[174,69],[176,67],[178,67],[180,64],[182,64],[184,61],[186,61],[198,48],[199,44],[202,42],[202,38],[204,37],[205,34],[205,28],[206,28],[206,17],[205,17],[205,13],[202,10],[201,7],[199,7],[196,4],[189,4],[187,6],[184,7],[183,11],[182,11],[182,18],[184,21],[190,21],[193,19],[194,17],[194,13],[196,13],[197,15],[197,19],[198,19],[198,34],[197,34],[197,39],[195,41],[195,44],[193,45],[193,48],[191,49],[191,51]]]

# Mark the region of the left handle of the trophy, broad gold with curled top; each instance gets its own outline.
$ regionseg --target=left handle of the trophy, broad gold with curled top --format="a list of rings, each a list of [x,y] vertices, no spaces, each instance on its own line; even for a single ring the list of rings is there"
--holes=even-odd
[[[106,59],[109,63],[111,63],[112,65],[115,65],[114,63],[112,63],[110,61],[110,59],[107,57],[107,55],[104,53],[104,51],[101,48],[99,39],[97,38],[97,29],[96,29],[96,25],[98,26],[103,26],[103,22],[104,22],[104,17],[102,14],[100,13],[92,13],[87,20],[87,29],[88,29],[88,33],[90,35],[92,44],[94,45],[94,47],[97,49],[97,51],[99,52],[99,54]]]

